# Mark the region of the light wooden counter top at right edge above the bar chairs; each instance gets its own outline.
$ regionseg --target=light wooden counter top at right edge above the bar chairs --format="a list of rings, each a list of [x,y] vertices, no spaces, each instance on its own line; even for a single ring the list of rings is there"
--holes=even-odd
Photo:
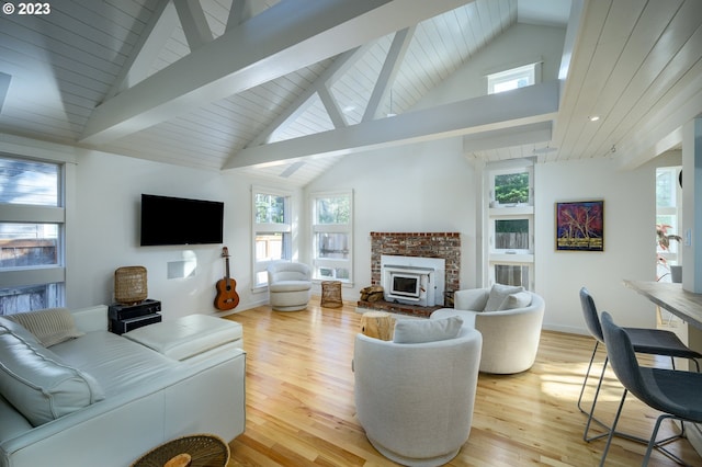
[[[678,318],[702,329],[702,294],[683,291],[682,284],[669,282],[624,280],[624,284]]]

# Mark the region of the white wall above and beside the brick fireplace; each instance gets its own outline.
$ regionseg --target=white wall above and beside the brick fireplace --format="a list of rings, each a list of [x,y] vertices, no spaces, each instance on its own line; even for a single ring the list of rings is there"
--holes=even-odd
[[[351,155],[305,189],[353,190],[354,284],[344,299],[358,300],[371,285],[371,231],[461,232],[461,284],[475,283],[476,186],[462,151],[461,138],[451,138]]]

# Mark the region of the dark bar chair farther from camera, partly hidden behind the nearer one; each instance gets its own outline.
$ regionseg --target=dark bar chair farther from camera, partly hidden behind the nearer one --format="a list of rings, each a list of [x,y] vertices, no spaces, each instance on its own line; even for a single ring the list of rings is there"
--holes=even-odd
[[[597,307],[595,306],[595,299],[586,287],[580,288],[580,305],[582,306],[582,314],[585,316],[585,322],[588,327],[588,330],[595,338],[595,350],[592,351],[590,364],[588,365],[588,371],[585,374],[585,380],[582,381],[582,387],[580,388],[580,397],[578,398],[578,409],[580,409],[582,413],[588,415],[588,421],[585,425],[582,438],[587,442],[590,442],[607,436],[611,430],[610,426],[595,417],[595,406],[597,405],[597,399],[600,394],[602,380],[604,379],[608,357],[604,358],[604,362],[602,364],[602,373],[600,374],[600,379],[597,384],[597,389],[595,390],[592,407],[588,411],[582,408],[582,395],[585,394],[585,388],[587,387],[588,378],[590,377],[590,371],[592,369],[592,363],[595,362],[595,355],[597,354],[598,346],[600,345],[600,343],[604,344],[604,338],[602,335],[602,326],[600,324],[600,318],[598,317]],[[700,372],[700,363],[697,358],[702,358],[702,354],[688,348],[673,332],[663,329],[646,328],[624,328],[624,330],[632,341],[635,353],[669,356],[672,362],[673,369],[676,367],[675,357],[689,358],[694,362],[698,373]],[[592,421],[604,428],[607,431],[604,433],[588,437]],[[641,438],[629,435],[626,433],[616,434],[634,441],[642,441]]]

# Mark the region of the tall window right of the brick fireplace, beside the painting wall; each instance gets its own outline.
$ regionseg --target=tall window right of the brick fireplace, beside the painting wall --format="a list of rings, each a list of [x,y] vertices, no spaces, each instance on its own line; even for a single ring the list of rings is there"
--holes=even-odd
[[[533,168],[488,169],[488,280],[533,289]]]

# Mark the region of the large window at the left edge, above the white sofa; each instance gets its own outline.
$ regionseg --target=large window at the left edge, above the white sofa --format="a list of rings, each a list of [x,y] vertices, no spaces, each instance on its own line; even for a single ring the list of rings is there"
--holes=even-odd
[[[65,305],[64,166],[0,157],[0,315]]]

